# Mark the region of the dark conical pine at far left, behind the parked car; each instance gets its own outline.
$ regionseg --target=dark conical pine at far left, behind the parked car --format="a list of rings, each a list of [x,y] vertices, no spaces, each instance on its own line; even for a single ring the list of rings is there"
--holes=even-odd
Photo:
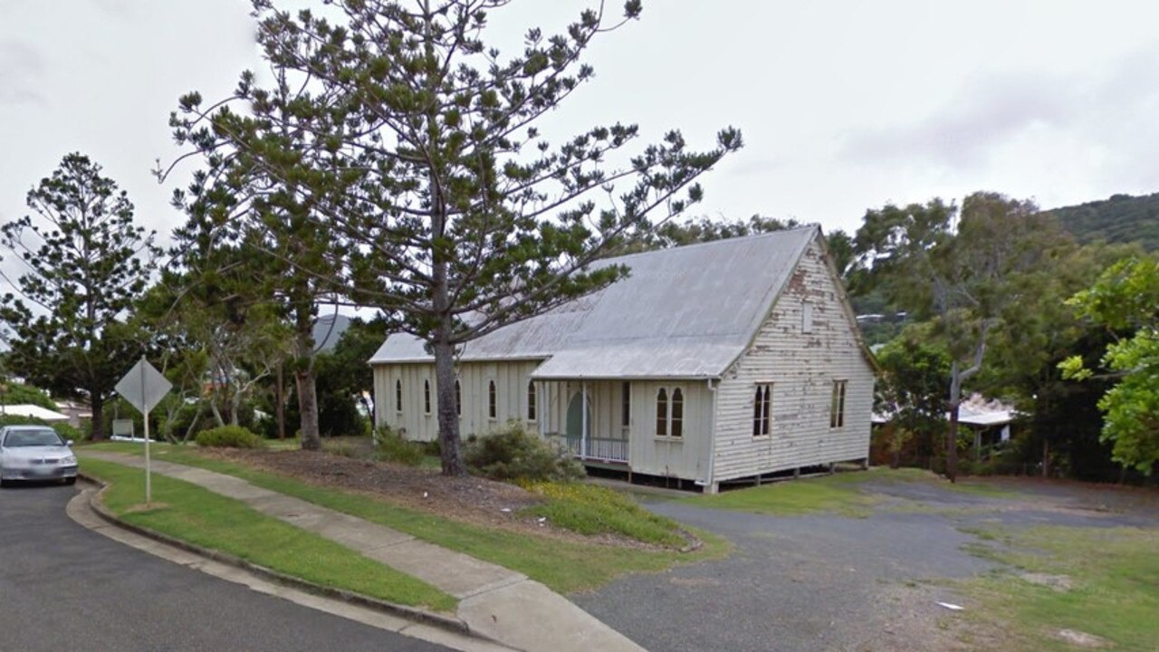
[[[125,325],[159,254],[153,232],[101,166],[79,153],[28,193],[24,216],[0,226],[20,271],[0,299],[9,369],[68,398],[87,399],[93,439],[104,437],[104,403],[144,353]]]

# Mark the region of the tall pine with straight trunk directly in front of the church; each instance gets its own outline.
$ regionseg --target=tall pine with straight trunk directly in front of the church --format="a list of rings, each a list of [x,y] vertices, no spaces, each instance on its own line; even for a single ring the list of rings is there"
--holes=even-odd
[[[508,0],[336,0],[326,15],[254,0],[274,80],[241,75],[212,106],[189,94],[177,140],[216,157],[210,179],[292,207],[329,233],[296,265],[435,357],[443,472],[462,474],[454,356],[462,345],[626,274],[592,267],[626,236],[700,201],[697,179],[741,147],[724,129],[630,150],[634,124],[551,138],[545,118],[593,78],[585,50],[640,16],[600,2],[556,35],[529,29],[504,58],[484,32]],[[261,186],[261,184],[258,184]]]

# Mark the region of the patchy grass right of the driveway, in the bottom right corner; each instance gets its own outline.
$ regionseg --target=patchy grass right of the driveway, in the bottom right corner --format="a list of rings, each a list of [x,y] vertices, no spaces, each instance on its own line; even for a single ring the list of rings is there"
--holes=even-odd
[[[987,530],[983,551],[1009,570],[962,582],[983,606],[974,618],[1004,631],[1004,650],[1073,651],[1059,630],[1106,638],[1120,651],[1159,649],[1159,530],[1033,527]],[[976,548],[974,551],[979,551]],[[1067,589],[1033,584],[1064,578]]]

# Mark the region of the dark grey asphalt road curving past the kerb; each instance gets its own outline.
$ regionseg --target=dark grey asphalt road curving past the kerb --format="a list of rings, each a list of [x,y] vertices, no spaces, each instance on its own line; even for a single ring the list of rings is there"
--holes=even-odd
[[[121,545],[65,515],[74,494],[0,491],[0,650],[445,650]]]

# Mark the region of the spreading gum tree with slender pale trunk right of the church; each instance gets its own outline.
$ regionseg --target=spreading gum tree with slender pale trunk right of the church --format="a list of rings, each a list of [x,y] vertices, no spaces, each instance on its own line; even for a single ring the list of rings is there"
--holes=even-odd
[[[976,193],[866,212],[854,239],[870,276],[898,306],[930,319],[949,355],[946,474],[957,474],[962,385],[983,370],[986,348],[1012,306],[1027,298],[1023,276],[1069,245],[1029,201]]]

